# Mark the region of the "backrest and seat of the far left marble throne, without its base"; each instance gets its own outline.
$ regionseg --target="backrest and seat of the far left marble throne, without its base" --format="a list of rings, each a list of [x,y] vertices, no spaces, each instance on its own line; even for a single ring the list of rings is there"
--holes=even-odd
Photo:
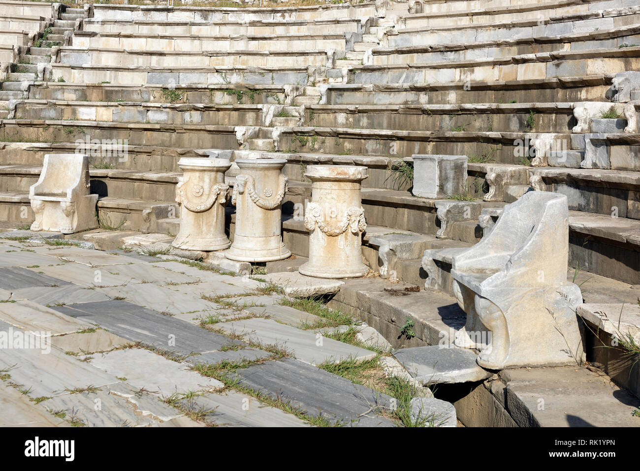
[[[29,198],[72,202],[89,193],[89,157],[82,154],[47,154]]]

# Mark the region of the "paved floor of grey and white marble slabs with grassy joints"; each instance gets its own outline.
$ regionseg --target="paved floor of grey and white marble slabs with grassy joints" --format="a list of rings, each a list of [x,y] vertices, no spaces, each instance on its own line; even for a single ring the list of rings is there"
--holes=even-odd
[[[241,365],[232,373],[243,383],[236,388],[312,417],[396,425],[381,415],[390,397],[313,365],[376,353],[303,330],[322,319],[279,305],[282,294],[262,294],[260,281],[124,251],[0,239],[0,253],[0,336],[35,331],[44,339],[1,352],[1,425],[309,426],[207,376],[229,362]],[[300,360],[275,360],[269,345]]]

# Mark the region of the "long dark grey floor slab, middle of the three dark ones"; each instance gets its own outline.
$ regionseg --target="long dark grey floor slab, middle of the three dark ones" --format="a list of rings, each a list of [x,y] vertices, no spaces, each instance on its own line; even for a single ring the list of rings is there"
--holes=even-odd
[[[230,344],[242,344],[219,333],[173,319],[170,315],[122,300],[72,304],[52,307],[63,314],[99,324],[120,337],[154,347],[175,351],[179,355],[219,350]]]

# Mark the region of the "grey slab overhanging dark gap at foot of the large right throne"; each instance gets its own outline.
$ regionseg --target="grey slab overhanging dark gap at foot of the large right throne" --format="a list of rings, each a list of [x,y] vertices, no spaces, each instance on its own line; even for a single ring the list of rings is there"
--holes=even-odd
[[[476,353],[452,346],[403,348],[394,356],[423,385],[480,381],[493,374],[477,365]]]

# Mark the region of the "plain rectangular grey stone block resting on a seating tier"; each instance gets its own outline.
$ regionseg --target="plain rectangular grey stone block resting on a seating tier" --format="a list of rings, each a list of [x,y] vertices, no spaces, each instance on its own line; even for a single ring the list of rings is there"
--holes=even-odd
[[[444,199],[465,193],[466,156],[413,156],[413,195]]]

